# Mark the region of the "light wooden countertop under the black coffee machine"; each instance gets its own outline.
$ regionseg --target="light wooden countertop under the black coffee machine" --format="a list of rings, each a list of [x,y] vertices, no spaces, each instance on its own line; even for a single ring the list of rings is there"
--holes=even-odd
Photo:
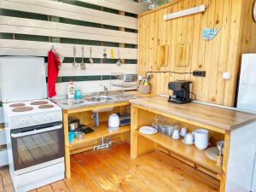
[[[225,131],[232,131],[256,120],[256,115],[251,113],[241,113],[235,110],[217,108],[194,102],[177,105],[167,102],[167,98],[164,96],[138,98],[130,102],[133,105],[153,109],[162,113],[169,113],[183,119],[215,126]]]

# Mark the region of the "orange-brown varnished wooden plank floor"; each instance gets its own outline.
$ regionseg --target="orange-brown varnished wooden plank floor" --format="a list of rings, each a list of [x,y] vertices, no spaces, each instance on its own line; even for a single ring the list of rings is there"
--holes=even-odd
[[[130,146],[114,144],[111,148],[74,154],[72,178],[49,184],[32,192],[83,191],[218,191],[196,175],[190,175],[170,162],[159,151],[130,159]],[[0,169],[0,191],[12,192],[8,167]]]

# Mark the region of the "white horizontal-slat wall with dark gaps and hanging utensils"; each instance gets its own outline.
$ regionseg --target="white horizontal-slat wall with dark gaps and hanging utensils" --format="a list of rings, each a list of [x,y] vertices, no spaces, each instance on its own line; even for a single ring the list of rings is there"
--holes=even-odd
[[[74,79],[83,92],[102,91],[103,85],[109,86],[111,73],[137,74],[137,14],[146,10],[142,3],[130,0],[1,0],[0,56],[32,55],[47,61],[54,45],[65,56],[56,85],[58,96],[67,94],[68,79]],[[77,62],[81,62],[84,46],[87,70],[73,67],[73,46]],[[115,65],[119,55],[125,59],[121,67]],[[129,89],[136,89],[136,84]],[[3,122],[1,107],[0,102]]]

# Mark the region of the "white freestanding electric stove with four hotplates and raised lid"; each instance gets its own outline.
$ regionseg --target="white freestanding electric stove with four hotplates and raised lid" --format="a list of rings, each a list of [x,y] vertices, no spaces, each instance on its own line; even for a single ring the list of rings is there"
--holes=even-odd
[[[44,58],[0,57],[0,88],[17,192],[64,178],[62,110],[47,96]]]

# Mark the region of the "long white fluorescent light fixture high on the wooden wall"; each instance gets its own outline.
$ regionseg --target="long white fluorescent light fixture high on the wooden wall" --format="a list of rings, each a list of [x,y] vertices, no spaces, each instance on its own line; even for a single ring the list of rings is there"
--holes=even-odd
[[[177,11],[176,13],[173,14],[168,14],[168,15],[164,15],[164,20],[172,20],[178,17],[183,17],[186,15],[193,15],[193,14],[198,14],[201,12],[206,11],[206,5],[201,5],[195,8],[191,8],[191,9],[185,9],[182,11]]]

